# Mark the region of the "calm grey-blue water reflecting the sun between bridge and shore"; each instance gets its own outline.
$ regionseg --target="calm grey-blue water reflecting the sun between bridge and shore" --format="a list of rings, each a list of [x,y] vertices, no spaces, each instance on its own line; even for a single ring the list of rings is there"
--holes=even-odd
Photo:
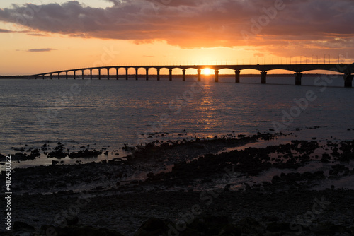
[[[302,86],[292,85],[295,78],[268,78],[273,84],[267,85],[260,78],[241,78],[239,84],[233,78],[175,80],[0,80],[0,153],[45,141],[113,150],[136,145],[144,141],[139,134],[147,133],[169,133],[166,138],[255,134],[274,129],[273,122],[285,132],[322,127],[299,131],[299,139],[354,138],[347,130],[354,129],[354,90],[343,88],[341,77],[321,78],[319,86],[306,77]],[[299,99],[304,109],[295,107]],[[284,124],[285,112],[294,116]]]

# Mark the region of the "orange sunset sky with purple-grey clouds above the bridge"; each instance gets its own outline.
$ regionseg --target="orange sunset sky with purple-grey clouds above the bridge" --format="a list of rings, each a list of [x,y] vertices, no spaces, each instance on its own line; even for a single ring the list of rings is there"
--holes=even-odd
[[[354,62],[353,0],[27,2],[0,2],[0,75],[98,65]]]

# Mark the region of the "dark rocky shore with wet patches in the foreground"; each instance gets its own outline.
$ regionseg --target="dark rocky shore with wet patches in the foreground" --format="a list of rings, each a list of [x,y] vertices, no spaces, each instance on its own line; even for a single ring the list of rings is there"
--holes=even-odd
[[[237,148],[282,135],[155,141],[124,160],[16,169],[1,235],[354,235],[354,191],[336,186],[353,179],[354,141]]]

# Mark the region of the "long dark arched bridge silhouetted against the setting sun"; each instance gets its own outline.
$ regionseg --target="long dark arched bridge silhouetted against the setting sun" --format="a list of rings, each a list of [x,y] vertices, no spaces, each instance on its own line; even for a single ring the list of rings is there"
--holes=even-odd
[[[261,83],[266,83],[268,71],[275,69],[282,69],[287,71],[292,71],[295,73],[295,84],[301,85],[303,72],[314,71],[314,70],[324,70],[324,71],[333,71],[338,73],[343,73],[343,81],[345,87],[352,87],[352,81],[354,78],[354,63],[353,64],[249,64],[249,65],[180,65],[180,66],[101,66],[101,67],[89,67],[81,69],[69,69],[64,71],[53,71],[49,73],[38,73],[29,78],[45,78],[49,76],[52,79],[56,76],[60,79],[60,74],[64,73],[65,78],[68,79],[68,73],[74,73],[74,79],[76,79],[76,72],[81,71],[81,78],[84,79],[84,72],[90,71],[90,78],[93,78],[93,70],[98,71],[98,79],[101,80],[102,70],[107,71],[107,78],[112,78],[113,75],[110,75],[110,69],[115,69],[115,78],[119,78],[118,70],[125,69],[125,79],[128,79],[128,69],[135,69],[135,79],[138,79],[138,70],[146,70],[146,80],[149,80],[149,69],[156,69],[157,71],[157,81],[160,80],[160,71],[161,69],[169,69],[169,80],[172,81],[172,72],[173,69],[182,69],[182,80],[185,81],[185,71],[187,69],[197,70],[198,81],[201,80],[201,71],[202,69],[212,69],[215,71],[215,82],[219,82],[219,71],[222,69],[231,69],[235,72],[235,83],[240,82],[240,73],[245,69],[255,69],[261,72]],[[80,76],[80,75],[78,75]]]

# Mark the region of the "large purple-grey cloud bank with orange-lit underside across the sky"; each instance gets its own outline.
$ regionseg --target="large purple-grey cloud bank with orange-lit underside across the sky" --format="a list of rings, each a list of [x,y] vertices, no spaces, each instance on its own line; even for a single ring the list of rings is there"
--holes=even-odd
[[[134,42],[166,40],[179,47],[251,45],[353,50],[353,0],[106,0],[0,9],[0,20],[36,32]],[[280,4],[279,4],[280,3]],[[348,46],[350,45],[350,46]]]

